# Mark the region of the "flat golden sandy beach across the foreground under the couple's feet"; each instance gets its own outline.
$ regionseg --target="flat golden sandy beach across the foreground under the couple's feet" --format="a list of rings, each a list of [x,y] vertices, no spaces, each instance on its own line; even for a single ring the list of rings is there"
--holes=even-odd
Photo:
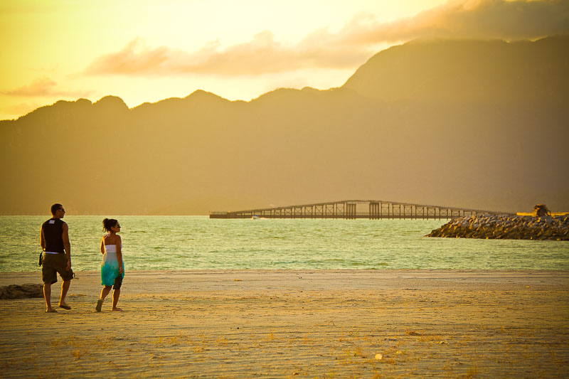
[[[121,313],[110,298],[95,312],[100,289],[98,272],[78,272],[73,309],[56,314],[43,299],[0,300],[1,376],[569,375],[565,271],[127,272]]]

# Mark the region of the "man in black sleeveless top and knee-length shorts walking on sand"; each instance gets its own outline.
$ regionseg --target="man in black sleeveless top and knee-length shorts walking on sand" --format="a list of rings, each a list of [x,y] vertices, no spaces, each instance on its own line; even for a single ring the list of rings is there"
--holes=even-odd
[[[56,312],[51,307],[51,284],[58,281],[58,272],[63,283],[61,284],[61,295],[59,307],[71,309],[65,303],[65,295],[68,292],[69,284],[73,279],[71,269],[71,245],[69,243],[69,228],[61,220],[65,216],[65,209],[61,204],[51,205],[51,215],[53,216],[41,225],[40,245],[43,250],[43,262],[41,269],[41,279],[43,280],[43,297],[46,298],[46,312]]]

